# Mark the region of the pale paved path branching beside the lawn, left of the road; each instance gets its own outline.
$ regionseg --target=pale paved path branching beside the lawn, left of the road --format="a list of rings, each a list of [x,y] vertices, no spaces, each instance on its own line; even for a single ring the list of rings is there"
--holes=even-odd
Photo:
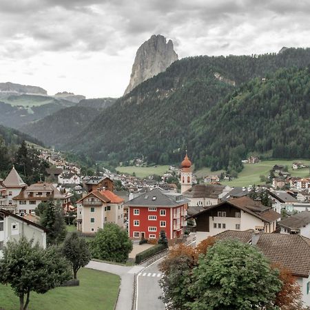
[[[143,266],[125,267],[105,262],[91,260],[86,268],[106,271],[121,277],[121,289],[116,304],[116,310],[131,310],[132,296],[134,294],[134,274],[139,273]]]

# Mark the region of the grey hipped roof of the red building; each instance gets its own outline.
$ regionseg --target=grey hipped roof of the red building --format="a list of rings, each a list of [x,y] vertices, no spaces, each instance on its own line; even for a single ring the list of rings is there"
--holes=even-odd
[[[183,196],[174,196],[163,189],[154,188],[151,191],[142,194],[127,203],[127,207],[177,207],[189,203],[189,200]]]

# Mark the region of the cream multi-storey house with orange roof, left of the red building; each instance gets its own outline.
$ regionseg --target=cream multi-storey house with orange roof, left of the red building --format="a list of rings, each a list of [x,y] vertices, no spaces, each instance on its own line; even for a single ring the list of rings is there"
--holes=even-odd
[[[94,234],[106,223],[124,226],[124,200],[109,190],[92,191],[76,201],[77,229]]]

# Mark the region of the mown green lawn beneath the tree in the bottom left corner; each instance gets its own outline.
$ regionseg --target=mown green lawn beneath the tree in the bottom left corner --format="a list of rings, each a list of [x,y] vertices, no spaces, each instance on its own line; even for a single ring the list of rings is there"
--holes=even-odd
[[[29,310],[112,310],[120,278],[112,273],[83,268],[79,287],[56,287],[45,294],[30,293]],[[19,309],[19,298],[10,287],[0,285],[0,309]]]

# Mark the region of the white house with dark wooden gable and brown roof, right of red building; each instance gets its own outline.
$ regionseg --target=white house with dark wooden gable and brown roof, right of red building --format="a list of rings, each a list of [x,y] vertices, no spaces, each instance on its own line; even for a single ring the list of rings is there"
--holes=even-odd
[[[196,242],[227,229],[273,232],[280,217],[271,207],[266,207],[248,196],[211,205],[198,214],[189,216],[196,220]]]

